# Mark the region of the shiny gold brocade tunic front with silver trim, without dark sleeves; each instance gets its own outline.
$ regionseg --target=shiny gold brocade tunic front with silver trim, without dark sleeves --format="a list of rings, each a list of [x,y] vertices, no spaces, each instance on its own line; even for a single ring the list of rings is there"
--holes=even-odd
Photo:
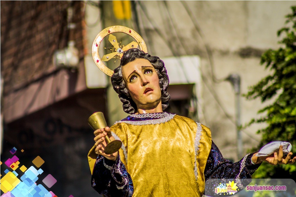
[[[210,130],[186,117],[160,114],[136,121],[131,115],[111,127],[123,142],[119,155],[131,176],[133,196],[202,196]],[[89,161],[92,169],[94,161]]]

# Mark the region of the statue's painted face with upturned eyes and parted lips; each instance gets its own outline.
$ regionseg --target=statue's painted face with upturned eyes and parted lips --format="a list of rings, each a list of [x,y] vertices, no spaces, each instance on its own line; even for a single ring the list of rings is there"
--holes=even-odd
[[[138,109],[153,109],[161,102],[159,79],[152,64],[143,58],[122,67],[123,80]]]

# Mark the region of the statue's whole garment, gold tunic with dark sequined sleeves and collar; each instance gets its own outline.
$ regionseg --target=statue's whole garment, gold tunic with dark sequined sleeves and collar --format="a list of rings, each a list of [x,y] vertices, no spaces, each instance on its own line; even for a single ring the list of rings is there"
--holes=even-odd
[[[123,142],[116,161],[95,147],[88,154],[91,185],[106,197],[213,196],[216,186],[205,187],[205,180],[250,179],[260,166],[252,164],[253,153],[235,163],[223,158],[209,128],[178,115],[130,115],[111,131]]]

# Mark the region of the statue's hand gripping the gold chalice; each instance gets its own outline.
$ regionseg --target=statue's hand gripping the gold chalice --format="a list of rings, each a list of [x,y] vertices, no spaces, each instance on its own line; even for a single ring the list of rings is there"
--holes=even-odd
[[[97,129],[94,131],[94,135],[95,135],[94,141],[96,146],[96,149],[95,149],[96,154],[100,154],[109,160],[115,161],[118,156],[118,151],[116,151],[113,154],[106,154],[104,152],[105,146],[107,146],[107,141],[105,140],[105,136],[108,135],[111,141],[115,140],[111,134],[110,128],[105,127],[105,128]]]

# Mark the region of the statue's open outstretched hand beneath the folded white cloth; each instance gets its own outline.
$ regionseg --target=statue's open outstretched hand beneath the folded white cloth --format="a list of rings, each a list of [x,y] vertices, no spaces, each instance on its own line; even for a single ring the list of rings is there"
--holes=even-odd
[[[283,146],[279,146],[279,153],[275,152],[271,155],[268,156],[261,156],[257,157],[255,156],[257,153],[253,154],[252,156],[252,162],[255,164],[261,163],[262,161],[265,161],[267,163],[270,163],[272,165],[277,165],[277,164],[293,164],[296,162],[296,157],[291,159],[292,157],[292,152],[289,152],[287,156],[284,156],[283,154]]]

